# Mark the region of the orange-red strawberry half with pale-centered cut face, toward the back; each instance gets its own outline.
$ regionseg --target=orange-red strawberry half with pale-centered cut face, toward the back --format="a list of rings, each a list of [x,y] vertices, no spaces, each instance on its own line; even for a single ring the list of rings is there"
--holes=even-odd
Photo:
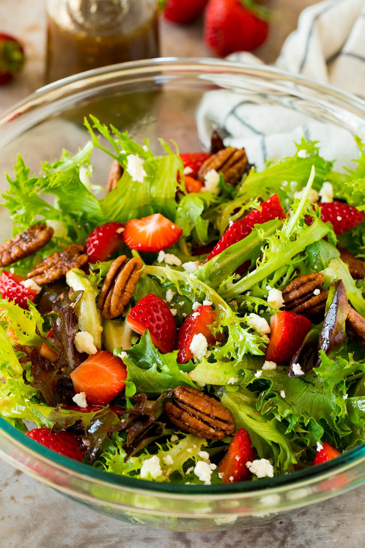
[[[131,249],[155,253],[176,243],[182,229],[160,213],[125,223],[123,240]]]

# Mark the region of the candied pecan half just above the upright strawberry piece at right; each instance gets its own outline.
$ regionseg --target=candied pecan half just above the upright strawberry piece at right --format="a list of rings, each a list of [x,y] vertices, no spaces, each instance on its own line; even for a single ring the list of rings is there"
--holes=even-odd
[[[298,276],[282,292],[285,310],[313,318],[325,311],[328,291],[323,289],[325,277],[320,272]],[[315,290],[320,293],[316,295]],[[317,293],[317,291],[316,291]]]

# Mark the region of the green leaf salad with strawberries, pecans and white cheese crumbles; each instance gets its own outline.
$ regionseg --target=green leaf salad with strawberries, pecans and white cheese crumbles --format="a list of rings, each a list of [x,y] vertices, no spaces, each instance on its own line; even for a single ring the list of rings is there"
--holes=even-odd
[[[7,175],[2,418],[157,482],[273,477],[362,443],[362,141],[343,173],[304,138],[258,172],[217,134],[154,155],[85,125],[75,156]],[[101,199],[95,149],[113,160]]]

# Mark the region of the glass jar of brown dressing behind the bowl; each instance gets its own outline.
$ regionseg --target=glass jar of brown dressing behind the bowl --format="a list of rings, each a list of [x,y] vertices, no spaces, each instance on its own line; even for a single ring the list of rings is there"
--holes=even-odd
[[[156,0],[47,0],[47,83],[159,56]]]

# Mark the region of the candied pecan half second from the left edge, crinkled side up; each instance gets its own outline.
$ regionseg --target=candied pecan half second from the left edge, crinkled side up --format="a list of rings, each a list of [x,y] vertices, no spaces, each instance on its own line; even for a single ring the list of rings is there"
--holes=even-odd
[[[68,270],[80,268],[86,262],[88,262],[88,255],[85,253],[84,246],[73,243],[59,253],[53,253],[45,258],[27,274],[27,278],[32,278],[38,286],[43,286],[45,283],[63,278]]]

